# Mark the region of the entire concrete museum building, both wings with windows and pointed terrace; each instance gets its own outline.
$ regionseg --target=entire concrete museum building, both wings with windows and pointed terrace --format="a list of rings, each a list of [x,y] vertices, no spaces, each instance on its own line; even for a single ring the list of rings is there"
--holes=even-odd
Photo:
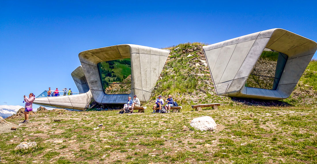
[[[317,43],[275,28],[203,47],[218,95],[281,100],[290,96],[317,50]],[[169,50],[124,44],[79,53],[71,76],[81,94],[47,97],[35,104],[79,109],[89,101],[124,104],[138,95],[149,100]],[[45,95],[46,93],[46,95]]]

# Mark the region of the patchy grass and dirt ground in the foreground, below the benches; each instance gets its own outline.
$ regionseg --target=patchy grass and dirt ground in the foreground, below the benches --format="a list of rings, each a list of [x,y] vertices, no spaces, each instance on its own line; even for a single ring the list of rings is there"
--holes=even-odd
[[[316,163],[317,111],[310,107],[220,106],[180,113],[42,112],[0,132],[2,163]],[[252,114],[252,115],[251,115]],[[197,131],[210,116],[216,131]],[[60,119],[60,122],[55,122]],[[7,119],[19,124],[21,118]],[[99,124],[103,124],[99,129]],[[21,142],[29,150],[14,150]]]

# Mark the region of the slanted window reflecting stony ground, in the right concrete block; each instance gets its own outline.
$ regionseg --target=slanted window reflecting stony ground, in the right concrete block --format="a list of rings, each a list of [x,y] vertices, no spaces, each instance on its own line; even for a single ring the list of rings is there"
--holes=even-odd
[[[251,71],[246,87],[276,90],[288,56],[265,48]]]

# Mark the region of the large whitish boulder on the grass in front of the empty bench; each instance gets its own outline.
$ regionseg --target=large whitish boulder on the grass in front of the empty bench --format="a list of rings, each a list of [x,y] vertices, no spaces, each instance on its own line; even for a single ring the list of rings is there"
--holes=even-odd
[[[191,127],[200,131],[213,131],[217,127],[214,119],[209,116],[194,118],[193,120],[191,120],[190,125]]]

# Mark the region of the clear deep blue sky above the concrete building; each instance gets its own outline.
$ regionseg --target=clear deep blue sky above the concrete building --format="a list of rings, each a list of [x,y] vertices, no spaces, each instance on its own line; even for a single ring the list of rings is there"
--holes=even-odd
[[[0,105],[78,92],[78,53],[117,44],[209,44],[271,28],[317,41],[316,1],[0,1]],[[317,58],[317,55],[314,56]]]

